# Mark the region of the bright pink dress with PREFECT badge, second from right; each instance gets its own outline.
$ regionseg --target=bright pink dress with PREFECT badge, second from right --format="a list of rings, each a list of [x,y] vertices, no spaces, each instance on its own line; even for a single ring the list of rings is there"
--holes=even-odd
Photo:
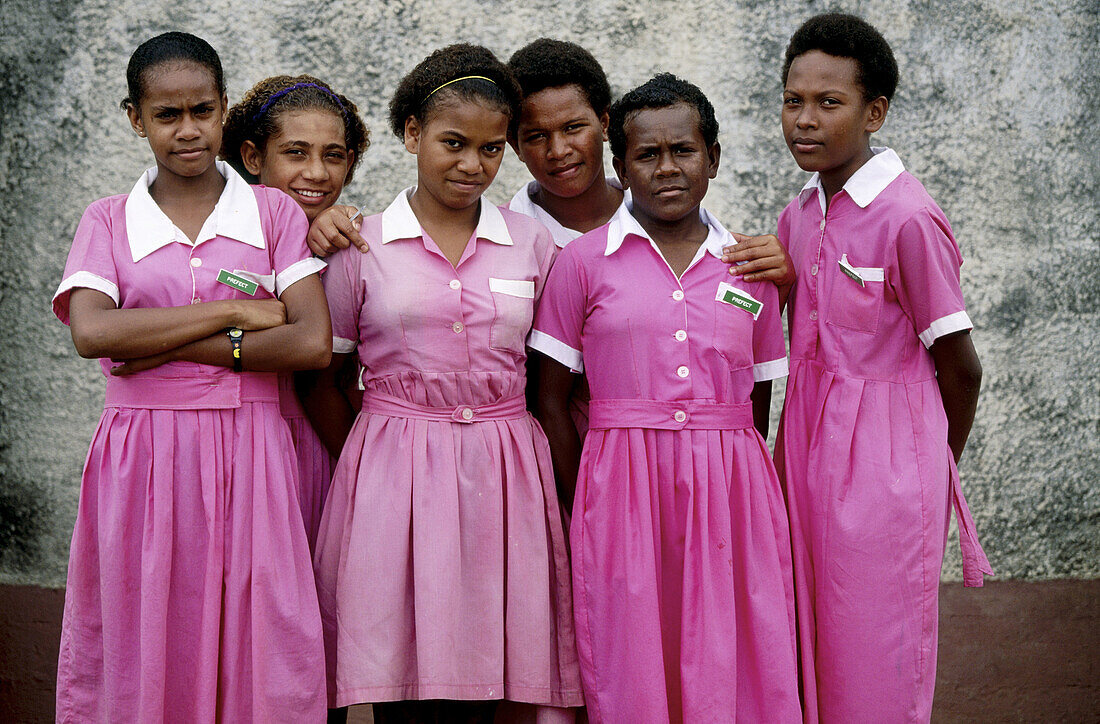
[[[783,496],[749,395],[787,373],[774,286],[710,235],[678,279],[624,207],[566,246],[529,344],[588,377],[570,524],[593,722],[799,722]]]

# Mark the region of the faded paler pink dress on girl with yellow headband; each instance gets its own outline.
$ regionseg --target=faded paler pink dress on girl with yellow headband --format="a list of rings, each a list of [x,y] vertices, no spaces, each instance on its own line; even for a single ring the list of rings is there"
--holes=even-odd
[[[341,251],[324,274],[333,351],[358,353],[364,387],[315,559],[330,702],[579,706],[550,450],[524,399],[557,248],[483,200],[452,266],[410,190],[364,220],[370,254]]]

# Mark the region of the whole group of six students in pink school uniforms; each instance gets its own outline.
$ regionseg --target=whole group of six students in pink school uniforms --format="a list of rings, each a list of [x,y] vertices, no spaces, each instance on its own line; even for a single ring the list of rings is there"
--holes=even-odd
[[[814,174],[778,237],[702,208],[696,86],[613,103],[572,43],[413,68],[417,182],[366,217],[336,202],[369,134],[321,80],[229,108],[178,32],[127,79],[156,165],[88,207],[54,297],[107,376],[58,721],[930,718],[952,506],[990,573],[956,470],[981,368],[947,220],[870,145],[875,29],[791,39]],[[508,145],[534,180],[498,208]]]

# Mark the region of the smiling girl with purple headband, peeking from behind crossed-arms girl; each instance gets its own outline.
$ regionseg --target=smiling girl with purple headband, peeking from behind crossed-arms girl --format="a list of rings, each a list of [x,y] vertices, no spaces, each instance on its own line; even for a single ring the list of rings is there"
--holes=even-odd
[[[257,83],[229,109],[221,155],[250,180],[286,191],[312,222],[336,204],[367,146],[370,134],[355,103],[312,76],[275,76]],[[354,372],[352,364],[345,376],[353,379]],[[309,404],[312,379],[311,373],[279,375],[279,403],[297,452],[298,502],[310,548],[336,463],[302,407]]]

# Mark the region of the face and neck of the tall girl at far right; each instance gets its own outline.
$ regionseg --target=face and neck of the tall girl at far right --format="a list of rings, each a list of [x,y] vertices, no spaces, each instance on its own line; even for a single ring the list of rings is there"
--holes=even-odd
[[[889,101],[867,101],[854,58],[810,51],[794,58],[783,89],[783,138],[803,171],[818,172],[826,193],[844,187],[870,157],[870,135]]]

